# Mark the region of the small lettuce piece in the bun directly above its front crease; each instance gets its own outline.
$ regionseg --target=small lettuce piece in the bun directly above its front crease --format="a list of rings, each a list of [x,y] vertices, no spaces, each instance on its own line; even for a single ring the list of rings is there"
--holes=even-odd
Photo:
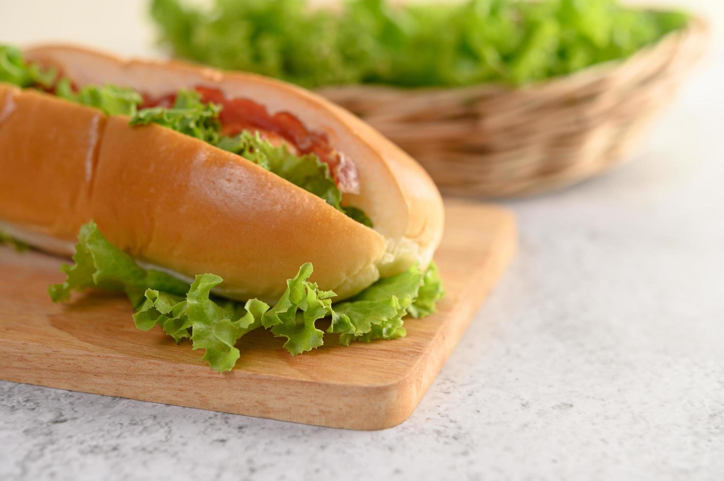
[[[106,115],[132,116],[143,103],[143,98],[132,88],[121,88],[110,84],[85,85],[75,93],[67,78],[58,81],[55,93],[60,98],[99,108]]]

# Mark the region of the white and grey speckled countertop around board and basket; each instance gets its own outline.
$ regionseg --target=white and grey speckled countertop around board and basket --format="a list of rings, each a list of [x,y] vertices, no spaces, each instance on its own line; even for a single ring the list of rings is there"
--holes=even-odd
[[[151,38],[138,1],[4,3],[1,41],[138,54]],[[719,0],[690,4],[724,22]],[[57,20],[81,10],[105,23]],[[719,31],[712,46],[633,163],[508,203],[518,258],[407,422],[332,430],[0,382],[0,480],[724,479]]]

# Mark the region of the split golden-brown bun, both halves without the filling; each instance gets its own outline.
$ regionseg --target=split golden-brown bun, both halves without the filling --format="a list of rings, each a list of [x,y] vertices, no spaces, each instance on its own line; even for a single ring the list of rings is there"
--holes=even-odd
[[[425,265],[439,244],[442,201],[429,176],[374,129],[316,95],[256,75],[124,62],[80,48],[26,54],[59,67],[77,85],[114,83],[149,95],[208,85],[271,112],[290,111],[355,161],[361,194],[345,195],[345,203],[365,210],[376,230],[200,140],[156,125],[130,127],[124,117],[4,85],[0,171],[10,174],[0,178],[0,222],[40,247],[66,250],[59,246],[93,218],[143,263],[187,277],[213,272],[224,278],[222,294],[274,300],[304,262],[313,263],[321,288],[343,298],[380,273]]]

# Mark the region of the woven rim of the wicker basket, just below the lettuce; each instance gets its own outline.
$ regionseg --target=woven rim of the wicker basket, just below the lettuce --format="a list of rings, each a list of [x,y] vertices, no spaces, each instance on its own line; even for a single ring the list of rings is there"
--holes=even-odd
[[[422,87],[399,87],[397,85],[385,84],[350,84],[350,85],[325,85],[314,89],[318,93],[334,93],[343,92],[345,90],[369,90],[376,92],[390,92],[397,95],[426,95],[436,93],[458,93],[461,96],[476,96],[481,94],[492,93],[534,93],[539,94],[550,88],[559,88],[561,83],[586,85],[606,77],[611,70],[618,69],[626,64],[633,64],[643,56],[653,54],[662,48],[666,48],[668,43],[681,41],[689,35],[706,35],[711,32],[710,23],[696,14],[691,14],[689,23],[686,27],[678,30],[672,30],[654,43],[642,47],[630,56],[623,59],[613,59],[589,65],[583,69],[571,72],[569,74],[557,75],[541,82],[534,82],[529,85],[511,86],[502,83],[482,83],[477,85],[463,85],[460,87],[445,86],[422,86]]]

